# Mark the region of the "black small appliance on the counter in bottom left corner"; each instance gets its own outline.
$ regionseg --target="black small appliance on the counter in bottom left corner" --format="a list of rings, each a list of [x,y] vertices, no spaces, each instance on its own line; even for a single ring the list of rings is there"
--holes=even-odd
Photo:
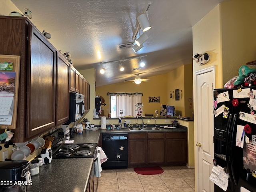
[[[0,161],[0,173],[0,192],[26,192],[28,161]]]

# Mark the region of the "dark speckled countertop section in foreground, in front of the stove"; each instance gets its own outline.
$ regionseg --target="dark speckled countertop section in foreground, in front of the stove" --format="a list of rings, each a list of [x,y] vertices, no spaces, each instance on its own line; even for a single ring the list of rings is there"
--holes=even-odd
[[[28,192],[83,192],[88,186],[93,158],[52,159],[32,176]]]

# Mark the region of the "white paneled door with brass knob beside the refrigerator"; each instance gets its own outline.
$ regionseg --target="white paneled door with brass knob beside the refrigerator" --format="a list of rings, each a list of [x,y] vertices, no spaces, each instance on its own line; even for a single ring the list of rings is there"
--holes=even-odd
[[[214,159],[213,89],[215,67],[195,72],[195,182],[196,192],[214,192],[209,180]]]

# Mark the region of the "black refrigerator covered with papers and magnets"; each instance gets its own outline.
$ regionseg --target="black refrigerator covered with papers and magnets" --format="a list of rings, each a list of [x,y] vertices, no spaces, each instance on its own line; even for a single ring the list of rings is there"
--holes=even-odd
[[[213,114],[214,162],[229,175],[226,191],[256,192],[256,86],[215,89]]]

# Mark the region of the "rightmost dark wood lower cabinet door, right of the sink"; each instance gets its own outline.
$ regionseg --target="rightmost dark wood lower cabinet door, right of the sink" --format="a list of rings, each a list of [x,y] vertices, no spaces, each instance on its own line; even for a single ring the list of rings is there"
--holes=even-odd
[[[166,163],[187,162],[186,139],[166,139]]]

